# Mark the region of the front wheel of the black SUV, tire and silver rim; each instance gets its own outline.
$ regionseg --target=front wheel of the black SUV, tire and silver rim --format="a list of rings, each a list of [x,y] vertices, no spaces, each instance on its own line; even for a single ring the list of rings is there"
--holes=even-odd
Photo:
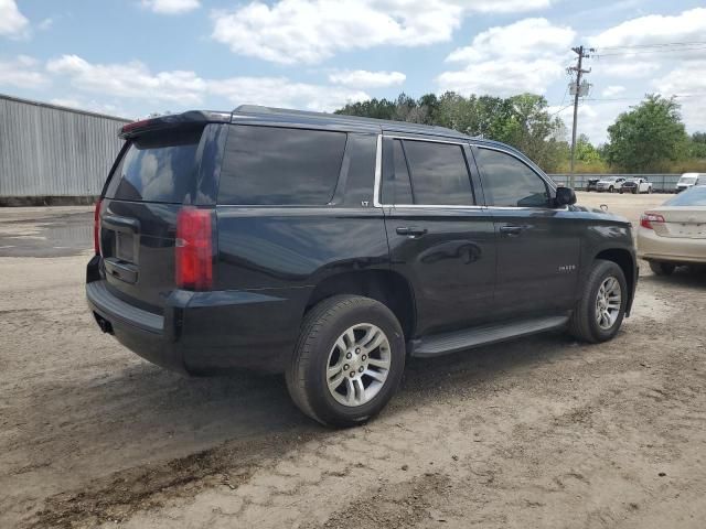
[[[584,285],[581,300],[569,321],[569,332],[591,344],[611,339],[622,324],[628,282],[613,261],[597,259]]]

